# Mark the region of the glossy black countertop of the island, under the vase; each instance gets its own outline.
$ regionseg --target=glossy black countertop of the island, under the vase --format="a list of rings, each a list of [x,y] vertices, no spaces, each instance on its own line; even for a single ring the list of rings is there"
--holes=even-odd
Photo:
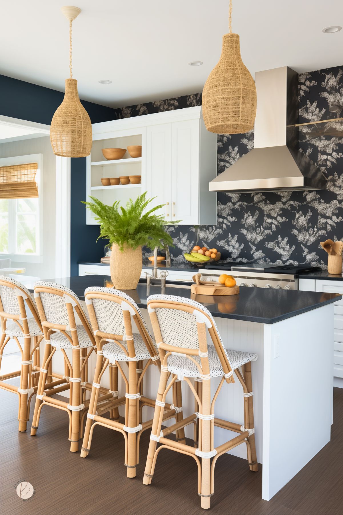
[[[63,284],[84,300],[84,290],[88,286],[112,287],[111,278],[100,275],[67,277],[64,279],[47,279],[50,282]],[[27,283],[32,291],[32,284]],[[142,280],[135,290],[127,290],[139,307],[147,307],[149,295],[160,294],[160,286],[148,287]],[[241,287],[238,295],[193,295],[189,287],[171,285],[165,288],[166,295],[176,295],[196,300],[203,304],[213,317],[231,318],[257,323],[275,323],[291,318],[307,311],[315,310],[326,304],[341,299],[341,295],[319,293],[316,291],[278,290],[272,288]]]

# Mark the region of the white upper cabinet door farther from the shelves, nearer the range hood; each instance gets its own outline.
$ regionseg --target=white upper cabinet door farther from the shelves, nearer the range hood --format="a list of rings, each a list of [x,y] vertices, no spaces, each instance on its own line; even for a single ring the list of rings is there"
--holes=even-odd
[[[172,124],[172,220],[199,223],[200,120]]]

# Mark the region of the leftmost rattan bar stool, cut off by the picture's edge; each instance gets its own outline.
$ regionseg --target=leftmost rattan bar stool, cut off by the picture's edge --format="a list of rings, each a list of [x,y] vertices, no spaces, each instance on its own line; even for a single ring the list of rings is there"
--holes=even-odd
[[[27,317],[27,307],[32,317]],[[0,367],[4,349],[10,339],[15,340],[22,356],[20,370],[0,375],[0,388],[18,394],[19,431],[26,431],[26,424],[30,418],[31,399],[37,391],[40,368],[39,345],[43,334],[34,298],[23,284],[7,276],[0,276],[0,320]],[[23,347],[18,338],[24,338]],[[19,376],[19,387],[5,382]]]

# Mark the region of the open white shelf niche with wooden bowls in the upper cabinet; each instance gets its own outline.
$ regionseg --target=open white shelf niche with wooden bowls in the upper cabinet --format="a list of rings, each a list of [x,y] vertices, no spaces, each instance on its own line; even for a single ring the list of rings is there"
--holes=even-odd
[[[95,137],[101,138],[101,134],[95,134]],[[144,143],[145,134],[142,134],[140,129],[102,134],[102,139],[94,139],[91,155],[87,157],[87,200],[89,200],[89,195],[92,195],[105,204],[112,205],[115,201],[120,200],[121,205],[125,205],[130,198],[135,200],[142,191],[145,191],[143,189],[145,187]],[[142,157],[132,158],[127,150],[122,159],[108,161],[101,152],[103,148],[127,148],[129,145],[141,145]],[[119,184],[117,186],[103,186],[101,184],[102,178],[129,175],[141,175],[141,182],[139,184]],[[87,209],[86,223],[96,225],[98,222],[94,217],[94,213]]]

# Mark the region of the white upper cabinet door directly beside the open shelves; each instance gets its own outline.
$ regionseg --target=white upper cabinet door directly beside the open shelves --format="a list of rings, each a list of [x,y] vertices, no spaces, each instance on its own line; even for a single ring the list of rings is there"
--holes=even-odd
[[[156,214],[163,214],[168,221],[172,218],[171,147],[172,124],[147,127],[147,191],[149,197],[156,197],[152,205],[166,204]]]

